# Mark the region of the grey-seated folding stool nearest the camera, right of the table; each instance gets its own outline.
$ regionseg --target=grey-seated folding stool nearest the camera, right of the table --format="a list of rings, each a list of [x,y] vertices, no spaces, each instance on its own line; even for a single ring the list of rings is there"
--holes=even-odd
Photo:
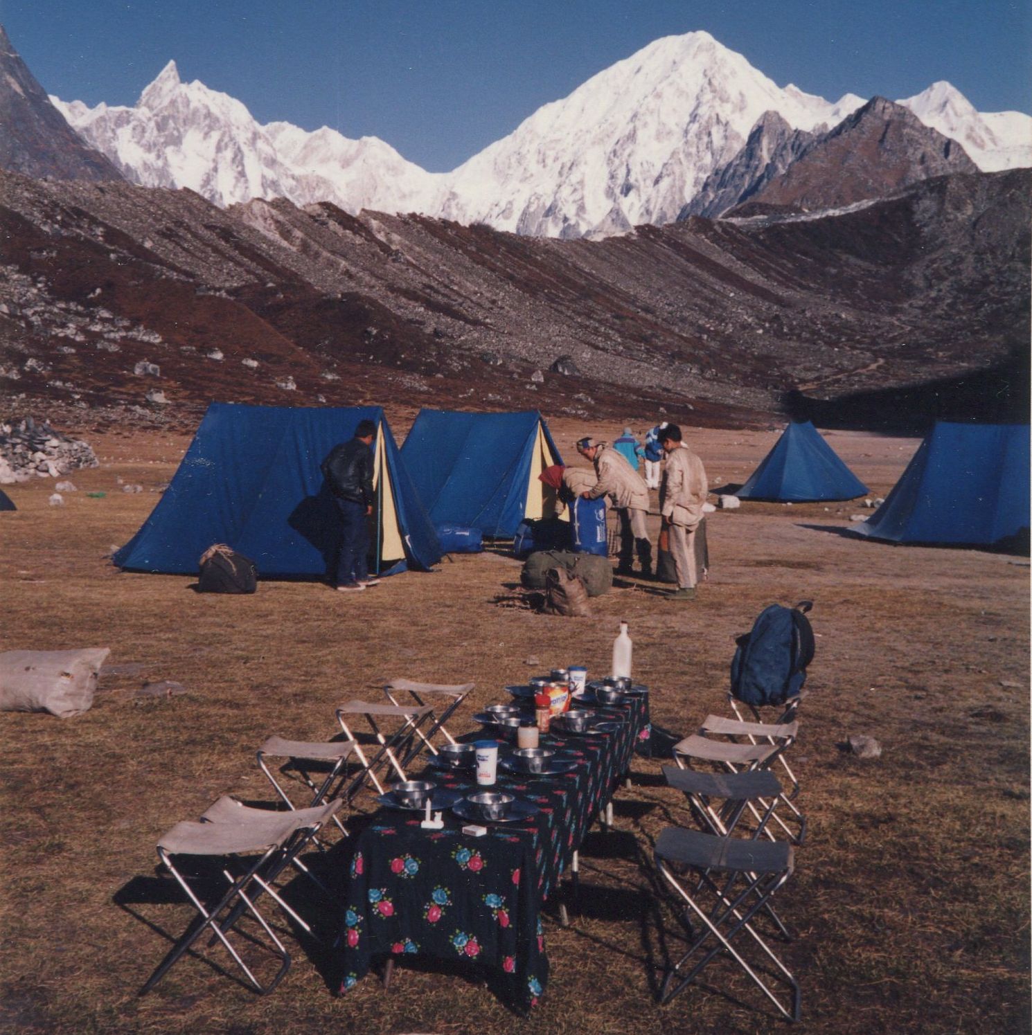
[[[659,1002],[669,1003],[723,951],[756,982],[782,1016],[798,1021],[799,984],[751,922],[791,876],[792,847],[786,841],[717,837],[668,827],[656,839],[655,863],[662,878],[691,911],[685,919],[692,939],[688,950],[665,975]],[[692,889],[685,887],[686,874],[698,878]],[[701,926],[691,922],[691,914],[701,921]],[[778,996],[760,976],[758,968],[732,944],[743,934],[759,947],[760,959],[772,965],[773,977],[787,986],[788,996],[784,992]],[[711,943],[709,947],[707,943]],[[689,964],[690,970],[684,973],[683,969]]]

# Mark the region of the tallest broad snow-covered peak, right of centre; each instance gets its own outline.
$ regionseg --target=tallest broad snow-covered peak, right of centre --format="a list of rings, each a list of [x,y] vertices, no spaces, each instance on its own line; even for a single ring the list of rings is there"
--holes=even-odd
[[[441,214],[549,237],[669,223],[764,112],[812,129],[862,102],[783,90],[707,32],[667,36],[460,166]]]

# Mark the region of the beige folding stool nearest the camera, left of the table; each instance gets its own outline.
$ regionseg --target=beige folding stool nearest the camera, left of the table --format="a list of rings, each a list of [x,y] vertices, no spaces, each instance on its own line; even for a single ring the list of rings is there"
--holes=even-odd
[[[274,879],[274,874],[281,873],[284,866],[290,864],[340,805],[338,801],[331,801],[319,809],[307,809],[304,812],[268,812],[267,818],[256,818],[249,814],[261,810],[248,809],[248,812],[244,814],[246,819],[243,822],[184,822],[177,823],[168,830],[157,842],[158,858],[186,892],[199,915],[161,960],[157,970],[148,978],[147,983],[140,989],[140,995],[150,992],[209,928],[243,971],[252,987],[260,995],[272,992],[290,969],[290,953],[265,917],[258,911],[255,899],[263,891],[267,892],[288,916],[308,929],[307,924],[283,900],[270,881]],[[232,876],[229,866],[223,869],[229,888],[210,910],[206,908],[186,876],[173,861],[182,856],[226,856],[236,861],[238,857],[244,855],[255,855],[256,858],[244,864],[237,877]],[[281,960],[279,970],[266,984],[259,981],[230,941],[232,927],[243,912],[249,913],[258,921],[272,942],[272,953]]]

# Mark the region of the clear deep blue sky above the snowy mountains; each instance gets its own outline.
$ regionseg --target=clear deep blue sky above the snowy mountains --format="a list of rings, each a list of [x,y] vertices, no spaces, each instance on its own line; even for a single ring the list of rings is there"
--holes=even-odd
[[[65,100],[135,103],[174,58],[260,122],[380,137],[435,172],[695,29],[828,99],[945,79],[980,111],[1032,110],[1032,0],[0,0],[0,22]]]

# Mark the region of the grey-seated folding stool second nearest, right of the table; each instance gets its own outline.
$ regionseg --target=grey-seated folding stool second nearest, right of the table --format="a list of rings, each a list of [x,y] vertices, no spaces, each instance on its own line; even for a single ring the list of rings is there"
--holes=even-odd
[[[678,769],[676,766],[664,766],[662,774],[667,782],[688,799],[692,816],[711,834],[717,837],[731,836],[746,806],[758,802],[763,809],[759,825],[745,832],[746,837],[756,839],[767,828],[767,823],[777,806],[782,785],[769,769],[756,769],[740,773],[701,773],[694,769]],[[716,807],[715,800],[723,800],[724,805]],[[764,912],[770,917],[778,934],[791,941],[792,935],[782,922],[780,917],[768,903]]]

